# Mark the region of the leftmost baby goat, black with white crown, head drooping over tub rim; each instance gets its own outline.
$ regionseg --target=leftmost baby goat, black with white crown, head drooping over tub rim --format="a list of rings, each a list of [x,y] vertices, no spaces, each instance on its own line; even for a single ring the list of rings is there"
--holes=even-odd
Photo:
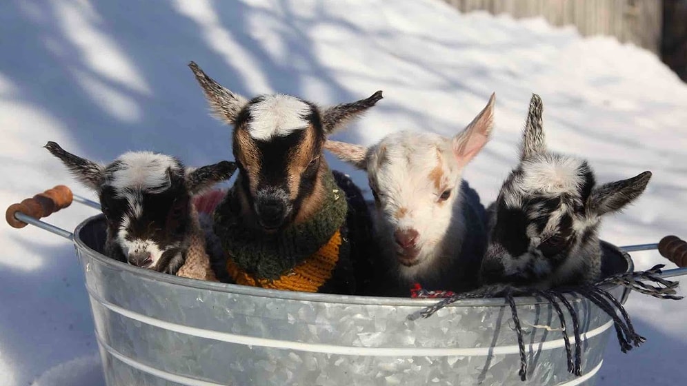
[[[234,163],[193,170],[165,154],[127,152],[110,165],[100,165],[54,142],[46,149],[97,192],[107,222],[107,256],[158,272],[215,280],[190,199],[229,179]]]

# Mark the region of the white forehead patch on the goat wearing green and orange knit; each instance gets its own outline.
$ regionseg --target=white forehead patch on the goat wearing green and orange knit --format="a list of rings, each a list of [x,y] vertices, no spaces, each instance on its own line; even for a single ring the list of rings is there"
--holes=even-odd
[[[308,126],[304,118],[310,105],[290,95],[268,95],[248,108],[252,120],[248,132],[254,139],[267,141],[273,136],[287,136]]]

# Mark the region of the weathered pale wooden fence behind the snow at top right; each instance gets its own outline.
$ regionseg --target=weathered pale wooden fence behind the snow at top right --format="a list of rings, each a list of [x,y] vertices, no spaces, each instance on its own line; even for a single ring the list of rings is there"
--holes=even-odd
[[[604,34],[658,53],[661,0],[444,0],[461,12],[485,10],[512,17],[544,17],[554,26],[575,25],[584,36]]]

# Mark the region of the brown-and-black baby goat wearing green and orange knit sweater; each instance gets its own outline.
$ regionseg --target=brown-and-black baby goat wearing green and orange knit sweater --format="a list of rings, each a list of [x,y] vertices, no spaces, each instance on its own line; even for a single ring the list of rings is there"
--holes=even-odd
[[[215,233],[226,252],[221,280],[355,293],[371,280],[366,259],[372,225],[360,190],[329,169],[322,147],[326,136],[375,105],[381,92],[330,108],[284,94],[248,100],[196,63],[189,66],[212,113],[234,127],[239,176],[215,208]]]

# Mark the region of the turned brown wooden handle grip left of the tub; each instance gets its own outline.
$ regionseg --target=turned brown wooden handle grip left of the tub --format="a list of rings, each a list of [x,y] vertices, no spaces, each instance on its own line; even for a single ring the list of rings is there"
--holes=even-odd
[[[26,223],[15,219],[15,213],[21,212],[39,220],[68,207],[72,204],[72,199],[74,199],[72,190],[65,185],[57,185],[50,190],[36,194],[30,199],[21,201],[21,203],[10,205],[7,208],[7,212],[5,212],[5,219],[11,227],[23,228],[26,227]]]

